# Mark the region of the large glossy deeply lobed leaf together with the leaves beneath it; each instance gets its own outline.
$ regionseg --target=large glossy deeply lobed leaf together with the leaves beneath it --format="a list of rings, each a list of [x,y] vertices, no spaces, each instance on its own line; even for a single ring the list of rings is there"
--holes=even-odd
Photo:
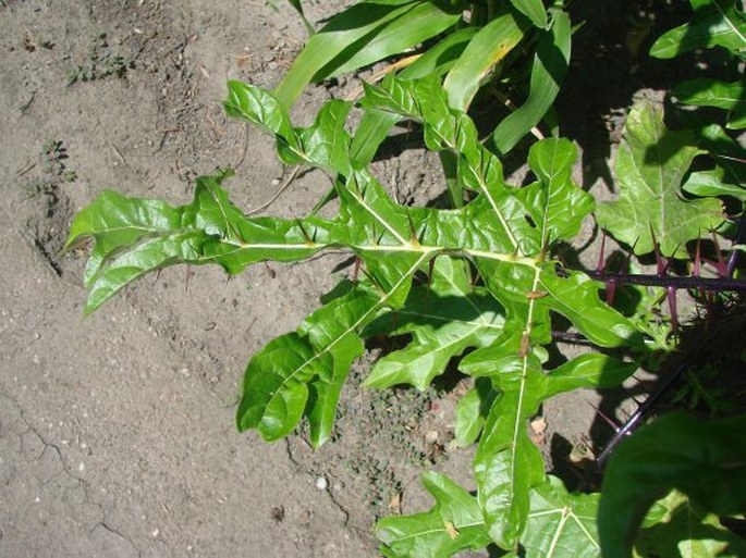
[[[598,495],[567,494],[545,473],[526,432],[526,421],[547,398],[616,385],[636,370],[634,362],[603,352],[543,370],[552,312],[599,347],[645,350],[640,333],[601,301],[600,284],[552,256],[553,246],[572,239],[594,209],[592,198],[572,181],[573,144],[557,138],[537,142],[528,154],[536,182],[516,188],[503,179],[499,159],[479,142],[470,119],[449,107],[437,78],[387,78],[380,87],[366,87],[360,108],[421,123],[429,149],[455,154],[458,179],[473,196],[454,210],[404,207],[367,168],[354,165],[346,128],[350,103],[329,101],[311,126],[297,128],[271,94],[239,82],[230,83],[229,90],[228,113],[272,134],[283,161],[334,177],[337,215],[248,218],[222,188],[228,173],[199,178],[194,201],[182,207],[103,193],[75,218],[68,241],[95,240],[85,273],[90,289],[86,312],[166,265],[216,263],[234,274],[265,260],[298,261],[346,248],[360,260],[363,273],[357,281],[343,281],[297,331],[252,358],[239,429],[256,429],[274,441],[305,418],[311,443],[323,444],[364,337],[387,323],[391,334],[411,331],[414,336],[374,367],[367,386],[423,388],[451,358],[473,349],[458,368],[489,379],[492,393],[473,390],[464,397],[456,432],[463,444],[478,439],[477,496],[431,473],[425,482],[437,510],[382,520],[378,533],[384,551],[448,556],[490,541],[506,550],[521,545],[534,556],[558,544],[580,556],[598,551]],[[418,272],[429,277],[426,284],[414,281]],[[481,281],[475,281],[475,273]]]

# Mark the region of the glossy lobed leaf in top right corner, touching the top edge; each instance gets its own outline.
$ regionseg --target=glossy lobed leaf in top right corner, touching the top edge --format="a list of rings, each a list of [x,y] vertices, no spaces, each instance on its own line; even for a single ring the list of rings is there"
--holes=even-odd
[[[650,48],[650,55],[662,59],[677,57],[698,48],[723,47],[743,55],[746,50],[746,21],[734,0],[693,2],[689,23],[671,29]]]

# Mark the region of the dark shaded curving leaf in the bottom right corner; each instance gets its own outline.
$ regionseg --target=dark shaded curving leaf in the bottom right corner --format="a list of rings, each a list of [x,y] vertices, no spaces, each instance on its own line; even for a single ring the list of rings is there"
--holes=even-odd
[[[623,441],[601,488],[603,556],[628,557],[648,508],[671,488],[714,513],[746,511],[745,427],[746,416],[702,420],[677,412]]]

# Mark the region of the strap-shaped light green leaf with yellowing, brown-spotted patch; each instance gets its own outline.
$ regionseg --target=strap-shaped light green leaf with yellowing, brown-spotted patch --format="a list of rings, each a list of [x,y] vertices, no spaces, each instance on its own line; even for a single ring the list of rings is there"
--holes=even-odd
[[[498,10],[494,18],[469,41],[443,82],[449,104],[454,109],[468,109],[481,80],[523,39],[524,22],[506,7]]]

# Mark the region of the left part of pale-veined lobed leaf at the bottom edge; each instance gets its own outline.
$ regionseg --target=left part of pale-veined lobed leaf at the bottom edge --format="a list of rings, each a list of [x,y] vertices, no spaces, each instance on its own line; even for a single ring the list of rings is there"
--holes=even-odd
[[[426,513],[381,519],[376,535],[383,556],[448,558],[490,543],[474,496],[440,473],[423,473],[421,480],[436,505]]]

